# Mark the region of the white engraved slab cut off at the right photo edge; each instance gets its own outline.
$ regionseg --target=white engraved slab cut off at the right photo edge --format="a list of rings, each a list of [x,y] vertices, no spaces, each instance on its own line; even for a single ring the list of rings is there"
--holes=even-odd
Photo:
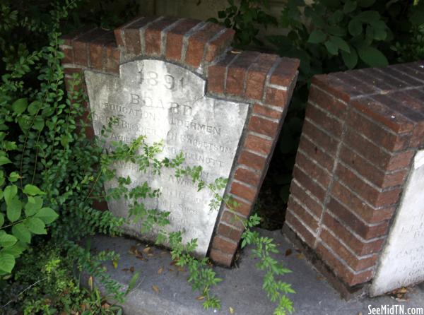
[[[424,280],[424,150],[418,151],[370,294]]]

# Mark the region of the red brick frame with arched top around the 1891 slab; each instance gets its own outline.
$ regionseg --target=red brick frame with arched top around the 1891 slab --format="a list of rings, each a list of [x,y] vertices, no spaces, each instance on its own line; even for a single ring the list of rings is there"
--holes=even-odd
[[[160,59],[178,64],[206,79],[206,94],[249,103],[245,131],[226,192],[240,203],[222,208],[209,256],[230,266],[239,246],[242,226],[266,174],[299,61],[258,52],[233,52],[234,35],[214,23],[184,18],[136,18],[114,31],[85,29],[64,37],[66,82],[72,73],[95,69],[119,76],[119,64],[134,59]],[[90,131],[91,136],[93,132]]]

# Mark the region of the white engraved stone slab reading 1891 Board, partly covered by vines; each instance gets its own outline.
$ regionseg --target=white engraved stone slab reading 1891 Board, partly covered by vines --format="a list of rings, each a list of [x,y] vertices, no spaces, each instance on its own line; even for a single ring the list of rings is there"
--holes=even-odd
[[[110,140],[129,143],[147,136],[148,143],[163,141],[162,157],[175,157],[183,151],[187,165],[201,165],[208,182],[230,176],[248,104],[206,97],[203,78],[165,61],[143,59],[122,64],[119,78],[89,70],[85,76],[96,135],[110,117],[119,117]],[[118,176],[131,177],[133,186],[147,181],[161,189],[162,196],[144,202],[146,208],[170,211],[167,230],[184,230],[183,241],[198,239],[197,254],[206,254],[218,215],[209,208],[210,191],[197,192],[191,181],[174,177],[172,170],[163,170],[158,177],[139,172],[131,163],[116,169]],[[107,183],[105,189],[112,186],[113,182]],[[115,215],[128,215],[123,200],[110,202],[109,208]],[[136,237],[155,237],[155,232],[141,235],[140,225],[124,229]]]

